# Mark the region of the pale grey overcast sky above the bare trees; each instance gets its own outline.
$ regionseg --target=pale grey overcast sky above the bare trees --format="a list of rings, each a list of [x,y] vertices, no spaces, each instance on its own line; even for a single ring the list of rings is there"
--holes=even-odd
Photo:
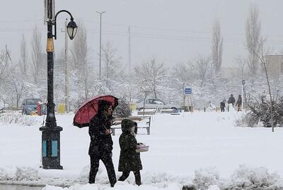
[[[43,0],[2,0],[0,6],[0,49],[11,49],[13,61],[18,61],[21,35],[30,38],[35,25],[42,30],[45,49],[47,28],[43,25]],[[93,63],[98,64],[99,22],[96,11],[106,11],[102,18],[102,41],[111,41],[117,55],[128,63],[129,32],[131,28],[132,65],[156,57],[167,65],[187,62],[197,54],[209,56],[212,25],[216,18],[224,37],[223,66],[229,67],[246,49],[245,23],[251,3],[258,4],[262,35],[267,36],[275,53],[282,53],[282,0],[55,0],[56,11],[67,9],[75,21],[83,22],[88,35],[88,47]],[[55,51],[64,46],[64,19],[57,22]],[[71,43],[71,42],[70,42]]]

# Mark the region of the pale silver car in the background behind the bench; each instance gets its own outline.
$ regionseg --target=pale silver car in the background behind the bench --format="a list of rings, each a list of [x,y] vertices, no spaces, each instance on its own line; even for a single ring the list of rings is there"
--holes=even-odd
[[[147,98],[145,100],[138,100],[136,102],[136,108],[140,111],[141,109],[156,109],[156,108],[162,108],[162,109],[178,109],[175,105],[166,104],[163,102],[163,100],[160,100],[158,98]]]

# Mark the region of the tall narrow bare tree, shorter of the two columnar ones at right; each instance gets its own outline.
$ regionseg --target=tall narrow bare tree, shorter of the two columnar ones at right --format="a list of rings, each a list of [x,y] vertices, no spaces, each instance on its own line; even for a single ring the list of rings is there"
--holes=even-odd
[[[219,20],[213,25],[212,35],[212,66],[214,73],[218,74],[222,64],[223,37],[221,37],[221,26]]]

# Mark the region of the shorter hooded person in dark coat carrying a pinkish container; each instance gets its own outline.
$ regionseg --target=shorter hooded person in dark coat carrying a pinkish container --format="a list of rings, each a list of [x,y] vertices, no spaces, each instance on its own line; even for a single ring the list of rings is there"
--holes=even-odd
[[[141,158],[139,153],[136,152],[137,140],[134,137],[137,133],[137,123],[129,119],[123,119],[122,134],[119,138],[120,144],[120,158],[118,171],[122,172],[122,176],[118,181],[125,181],[129,177],[129,172],[134,172],[134,178],[137,185],[141,185],[141,174],[139,170],[142,170]],[[136,133],[135,133],[136,132]]]

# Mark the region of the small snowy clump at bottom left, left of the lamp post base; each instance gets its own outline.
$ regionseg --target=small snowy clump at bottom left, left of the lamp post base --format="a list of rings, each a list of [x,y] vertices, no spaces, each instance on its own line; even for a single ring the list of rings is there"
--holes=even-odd
[[[17,167],[15,175],[16,175],[15,179],[17,181],[21,181],[21,180],[35,181],[37,180],[38,171],[31,167]]]

